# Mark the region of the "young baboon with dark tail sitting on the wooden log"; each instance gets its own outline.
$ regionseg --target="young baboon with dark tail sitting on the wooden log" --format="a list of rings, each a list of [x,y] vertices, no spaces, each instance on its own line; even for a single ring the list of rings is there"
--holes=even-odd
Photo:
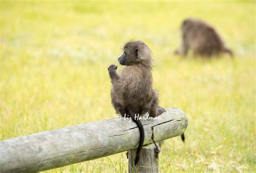
[[[140,132],[135,165],[137,165],[144,142],[144,128],[137,116],[146,112],[156,117],[165,110],[158,109],[158,92],[152,89],[152,57],[149,47],[142,41],[130,41],[124,45],[124,53],[118,57],[125,66],[117,74],[117,66],[112,64],[108,70],[111,78],[111,101],[117,113],[131,117]]]

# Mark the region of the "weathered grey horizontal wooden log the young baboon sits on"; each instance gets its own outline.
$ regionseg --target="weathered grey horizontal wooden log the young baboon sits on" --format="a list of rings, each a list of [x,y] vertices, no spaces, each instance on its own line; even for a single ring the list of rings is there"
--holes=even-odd
[[[184,133],[185,113],[171,108],[158,120],[142,120],[144,145]],[[139,129],[129,120],[109,119],[0,141],[0,172],[35,172],[135,149]]]

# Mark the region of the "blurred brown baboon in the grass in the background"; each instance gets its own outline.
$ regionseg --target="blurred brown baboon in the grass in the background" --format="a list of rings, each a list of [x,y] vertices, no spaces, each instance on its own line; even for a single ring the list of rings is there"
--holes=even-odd
[[[176,54],[187,55],[188,49],[193,50],[195,56],[209,57],[219,56],[220,53],[228,53],[233,56],[232,51],[225,47],[223,40],[214,28],[205,21],[188,18],[181,25],[182,43]]]

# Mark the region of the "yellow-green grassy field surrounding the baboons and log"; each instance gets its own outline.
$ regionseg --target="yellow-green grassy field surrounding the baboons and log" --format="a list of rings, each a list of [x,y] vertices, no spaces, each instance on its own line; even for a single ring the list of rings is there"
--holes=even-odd
[[[234,59],[174,56],[191,16],[213,24]],[[126,41],[143,40],[160,105],[189,119],[185,145],[164,143],[161,172],[256,171],[255,3],[1,1],[0,22],[0,140],[113,118],[107,67]],[[121,153],[47,172],[127,172],[127,164]]]

